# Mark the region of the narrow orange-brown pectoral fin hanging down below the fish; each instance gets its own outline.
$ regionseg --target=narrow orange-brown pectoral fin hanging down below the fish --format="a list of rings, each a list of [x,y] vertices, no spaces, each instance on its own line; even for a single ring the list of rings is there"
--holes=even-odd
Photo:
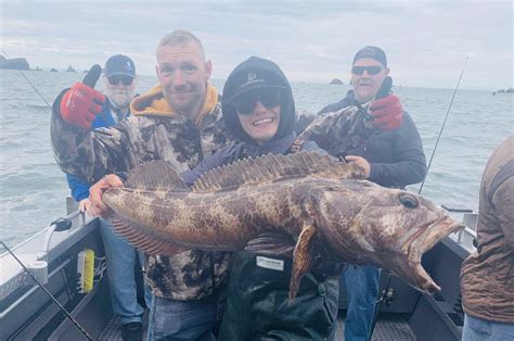
[[[312,242],[316,237],[316,226],[307,225],[301,230],[293,253],[293,274],[290,282],[290,302],[295,301],[301,277],[307,274],[312,265]]]

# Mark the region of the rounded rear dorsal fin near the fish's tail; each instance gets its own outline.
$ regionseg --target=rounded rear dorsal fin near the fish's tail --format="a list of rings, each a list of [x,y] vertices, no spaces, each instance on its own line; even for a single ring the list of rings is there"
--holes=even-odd
[[[180,175],[165,161],[150,161],[136,166],[125,187],[147,190],[188,189]]]

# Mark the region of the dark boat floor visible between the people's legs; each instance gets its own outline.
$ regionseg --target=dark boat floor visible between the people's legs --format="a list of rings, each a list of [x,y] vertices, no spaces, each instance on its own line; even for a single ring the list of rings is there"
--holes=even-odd
[[[335,340],[344,340],[345,314],[337,319],[337,330]],[[147,314],[143,317],[143,340],[146,340]],[[104,328],[98,340],[123,340],[121,321],[118,316],[114,316]],[[414,333],[409,328],[409,324],[402,315],[387,315],[381,317],[376,324],[372,340],[398,341],[416,340]]]

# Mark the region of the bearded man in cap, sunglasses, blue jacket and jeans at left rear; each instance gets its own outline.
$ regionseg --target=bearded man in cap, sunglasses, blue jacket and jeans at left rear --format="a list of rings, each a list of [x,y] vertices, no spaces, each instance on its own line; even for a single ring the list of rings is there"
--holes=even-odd
[[[136,94],[137,75],[133,61],[123,54],[111,56],[103,68],[105,101],[102,111],[91,123],[92,129],[110,127],[130,115],[130,101]],[[72,197],[79,203],[81,212],[91,214],[89,201],[90,184],[66,174]],[[141,340],[143,307],[138,303],[134,265],[137,257],[143,264],[140,253],[117,236],[111,225],[100,219],[100,231],[105,247],[107,277],[111,287],[113,312],[120,316],[124,340]],[[150,307],[151,293],[144,290]]]

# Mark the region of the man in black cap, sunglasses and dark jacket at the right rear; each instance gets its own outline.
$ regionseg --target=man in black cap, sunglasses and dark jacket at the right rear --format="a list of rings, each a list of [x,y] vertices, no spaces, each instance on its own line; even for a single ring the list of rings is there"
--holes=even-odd
[[[385,187],[404,188],[423,180],[426,160],[411,116],[390,92],[385,52],[367,46],[357,51],[346,97],[323,108],[301,138],[316,141],[331,155],[355,162],[365,177]],[[349,266],[343,274],[348,312],[345,340],[369,340],[378,295],[380,271]]]

